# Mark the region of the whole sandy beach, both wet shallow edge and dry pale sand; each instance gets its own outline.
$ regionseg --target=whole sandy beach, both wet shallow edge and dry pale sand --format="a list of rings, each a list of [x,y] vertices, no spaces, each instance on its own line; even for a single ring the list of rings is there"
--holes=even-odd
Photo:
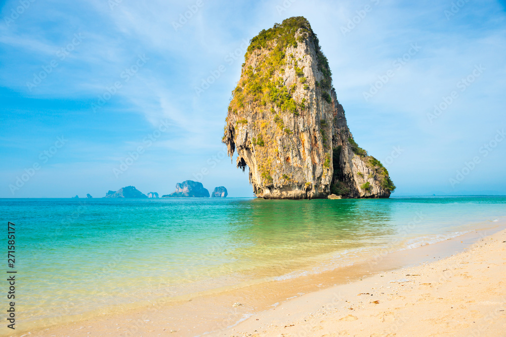
[[[504,225],[380,260],[348,269],[353,277],[340,278],[339,271],[333,271],[269,282],[218,297],[153,303],[32,330],[30,335],[505,335]],[[325,287],[324,281],[337,285]],[[299,295],[288,298],[293,293]]]

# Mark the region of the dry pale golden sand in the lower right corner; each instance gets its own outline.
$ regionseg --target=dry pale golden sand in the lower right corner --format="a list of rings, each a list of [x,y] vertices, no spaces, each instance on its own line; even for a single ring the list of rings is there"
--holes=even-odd
[[[279,305],[225,336],[504,336],[506,231],[465,252]]]

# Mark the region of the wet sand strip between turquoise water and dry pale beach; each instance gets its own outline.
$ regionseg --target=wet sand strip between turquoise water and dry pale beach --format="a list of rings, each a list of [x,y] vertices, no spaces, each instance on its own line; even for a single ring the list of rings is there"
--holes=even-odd
[[[485,231],[483,235],[502,230],[504,227],[506,222],[501,220],[493,228],[482,230]],[[268,312],[273,309],[273,304],[284,304],[328,288],[356,283],[361,278],[374,277],[381,272],[409,268],[416,264],[432,262],[434,258],[445,258],[456,251],[462,252],[480,239],[478,233],[474,231],[435,244],[389,253],[372,264],[362,262],[319,274],[266,282],[260,286],[253,284],[220,294],[202,294],[198,298],[186,301],[170,303],[151,301],[149,306],[131,308],[117,314],[99,315],[85,320],[32,329],[31,334],[89,335],[88,332],[91,332],[93,335],[110,333],[128,336],[139,333],[158,335],[171,330],[174,331],[173,335],[223,333],[231,326],[241,326],[251,321],[248,318],[252,316]],[[368,262],[372,259],[374,257]],[[234,303],[241,305],[233,307]],[[186,317],[186,320],[183,317]],[[197,321],[190,317],[195,317]]]

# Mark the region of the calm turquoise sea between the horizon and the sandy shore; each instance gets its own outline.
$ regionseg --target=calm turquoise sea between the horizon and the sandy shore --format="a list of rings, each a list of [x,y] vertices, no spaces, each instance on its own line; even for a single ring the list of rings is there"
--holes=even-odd
[[[15,223],[22,326],[328,270],[493,227],[505,206],[506,197],[0,199],[0,241],[6,251]]]

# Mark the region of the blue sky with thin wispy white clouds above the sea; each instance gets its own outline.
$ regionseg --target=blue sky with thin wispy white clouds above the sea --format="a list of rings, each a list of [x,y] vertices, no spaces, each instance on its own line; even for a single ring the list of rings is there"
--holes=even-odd
[[[386,164],[394,196],[504,195],[505,9],[488,0],[7,1],[0,197],[103,197],[127,185],[161,195],[187,179],[252,196],[247,172],[224,156],[227,105],[244,41],[300,15],[355,140]]]

